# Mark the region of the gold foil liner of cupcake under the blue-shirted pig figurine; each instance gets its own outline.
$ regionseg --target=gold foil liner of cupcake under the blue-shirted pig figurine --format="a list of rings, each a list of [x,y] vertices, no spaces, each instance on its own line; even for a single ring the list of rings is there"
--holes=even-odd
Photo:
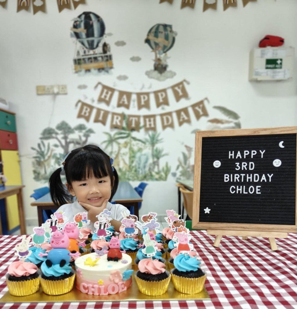
[[[40,277],[42,290],[45,294],[61,295],[70,292],[73,289],[75,273],[71,277],[62,280],[46,280]]]

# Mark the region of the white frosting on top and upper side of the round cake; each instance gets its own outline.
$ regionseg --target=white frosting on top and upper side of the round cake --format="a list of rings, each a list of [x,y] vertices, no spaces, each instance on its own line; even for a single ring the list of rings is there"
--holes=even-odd
[[[124,271],[131,269],[132,259],[130,256],[124,253],[122,259],[118,260],[118,262],[108,261],[107,254],[104,254],[100,256],[100,259],[96,262],[94,266],[84,264],[87,258],[96,260],[98,257],[98,254],[94,252],[80,256],[75,260],[75,269],[80,269],[79,276],[82,277],[84,280],[109,281],[111,272],[119,270],[123,274]],[[127,263],[122,263],[123,261],[127,261]]]

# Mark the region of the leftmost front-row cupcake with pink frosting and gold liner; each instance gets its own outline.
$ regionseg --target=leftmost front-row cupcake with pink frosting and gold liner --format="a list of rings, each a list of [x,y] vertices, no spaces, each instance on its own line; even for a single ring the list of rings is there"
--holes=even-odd
[[[37,266],[21,260],[11,263],[6,274],[9,293],[14,296],[26,296],[39,290],[39,274]]]

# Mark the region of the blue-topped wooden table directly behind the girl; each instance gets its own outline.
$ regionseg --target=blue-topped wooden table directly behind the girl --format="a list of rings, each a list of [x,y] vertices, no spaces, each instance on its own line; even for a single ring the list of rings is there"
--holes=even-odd
[[[139,218],[138,203],[142,202],[142,198],[128,181],[119,182],[117,192],[114,194],[112,200],[117,204],[122,204],[123,206],[134,206],[134,214],[137,218]],[[42,210],[55,210],[59,208],[59,206],[54,205],[49,193],[32,202],[31,206],[37,206],[39,226],[43,223]]]

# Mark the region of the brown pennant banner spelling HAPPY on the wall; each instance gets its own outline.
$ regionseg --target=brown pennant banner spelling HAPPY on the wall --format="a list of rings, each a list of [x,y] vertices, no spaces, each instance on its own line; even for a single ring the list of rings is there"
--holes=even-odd
[[[171,89],[174,95],[174,98],[176,102],[179,102],[183,98],[188,98],[189,95],[187,93],[185,83],[189,84],[187,80],[183,80],[177,84],[174,84],[171,87],[167,87],[164,89],[160,89],[157,91],[151,91],[151,92],[128,92],[128,91],[121,91],[117,90],[112,87],[108,87],[102,83],[97,83],[95,86],[95,89],[98,87],[98,85],[102,85],[100,94],[98,96],[97,101],[99,103],[103,102],[107,106],[110,105],[110,102],[114,96],[115,91],[118,92],[118,99],[117,99],[117,107],[124,107],[127,109],[130,109],[131,106],[131,97],[132,95],[136,95],[136,101],[137,101],[137,109],[140,110],[142,108],[146,108],[150,110],[151,108],[151,102],[150,102],[150,94],[154,95],[155,103],[157,108],[162,105],[169,106],[169,100],[168,100],[168,94],[167,89]]]

